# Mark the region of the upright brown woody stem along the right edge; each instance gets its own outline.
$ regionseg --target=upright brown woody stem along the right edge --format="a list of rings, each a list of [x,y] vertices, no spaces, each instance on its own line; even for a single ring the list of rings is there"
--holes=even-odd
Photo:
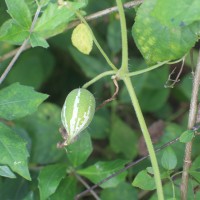
[[[197,67],[194,74],[192,97],[190,102],[189,119],[188,119],[188,129],[192,129],[192,127],[194,127],[196,123],[199,84],[200,84],[200,50],[197,61]],[[188,142],[185,147],[185,158],[184,158],[183,174],[181,182],[182,200],[187,200],[188,179],[189,179],[188,170],[190,169],[192,163],[191,154],[192,154],[192,141]]]

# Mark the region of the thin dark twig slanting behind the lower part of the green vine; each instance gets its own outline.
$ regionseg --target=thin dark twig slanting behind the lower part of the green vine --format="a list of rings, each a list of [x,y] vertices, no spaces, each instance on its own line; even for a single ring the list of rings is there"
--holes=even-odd
[[[168,143],[162,145],[161,147],[157,148],[157,149],[155,150],[155,152],[161,151],[162,149],[164,149],[164,148],[166,148],[166,147],[168,147],[168,146],[174,144],[174,143],[177,142],[178,140],[179,140],[179,137],[175,138],[174,140],[171,140],[170,142],[168,142]],[[103,183],[107,182],[108,180],[110,180],[111,178],[113,178],[113,177],[115,177],[115,176],[117,176],[117,175],[119,175],[119,174],[125,172],[127,169],[129,169],[129,168],[131,168],[131,167],[137,165],[138,163],[142,162],[143,160],[147,159],[148,157],[149,157],[149,154],[146,155],[146,156],[144,156],[144,157],[142,157],[142,158],[140,158],[140,159],[138,159],[138,160],[136,160],[136,161],[133,161],[133,162],[128,163],[128,164],[126,165],[126,167],[120,169],[119,171],[117,171],[117,172],[115,172],[114,174],[108,176],[107,178],[103,179],[103,180],[100,181],[99,183],[93,185],[92,187],[90,187],[90,188],[88,188],[87,190],[85,190],[85,191],[81,192],[80,194],[78,194],[78,195],[76,196],[75,199],[76,199],[76,200],[80,199],[82,196],[86,195],[86,194],[87,194],[88,192],[90,192],[91,190],[94,190],[95,188],[97,188],[97,187],[100,186],[101,184],[103,184]]]

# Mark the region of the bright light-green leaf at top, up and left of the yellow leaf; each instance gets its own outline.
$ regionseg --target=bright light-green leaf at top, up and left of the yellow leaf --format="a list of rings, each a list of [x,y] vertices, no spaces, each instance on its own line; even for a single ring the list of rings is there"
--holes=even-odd
[[[83,3],[71,2],[74,10],[80,9]],[[69,21],[74,17],[74,12],[64,7],[59,7],[57,3],[49,3],[42,16],[38,19],[34,32],[41,37],[52,37],[61,33]]]

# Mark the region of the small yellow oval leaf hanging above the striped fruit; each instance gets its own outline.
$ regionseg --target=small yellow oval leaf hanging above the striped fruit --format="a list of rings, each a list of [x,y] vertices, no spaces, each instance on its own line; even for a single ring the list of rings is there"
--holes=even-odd
[[[85,24],[79,24],[72,33],[72,44],[82,53],[89,54],[93,46],[91,31]]]

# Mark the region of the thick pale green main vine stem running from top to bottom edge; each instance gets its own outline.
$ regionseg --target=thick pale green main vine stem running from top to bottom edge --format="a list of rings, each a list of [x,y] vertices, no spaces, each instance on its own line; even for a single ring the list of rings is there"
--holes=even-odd
[[[146,146],[149,152],[151,164],[153,167],[154,171],[154,179],[156,183],[156,189],[157,189],[157,196],[159,200],[164,200],[164,195],[163,195],[163,188],[162,188],[162,182],[161,182],[161,177],[160,177],[160,171],[158,167],[158,162],[155,154],[155,150],[153,148],[153,144],[151,141],[150,134],[148,132],[137,96],[135,94],[133,85],[131,83],[130,77],[126,76],[125,74],[128,72],[128,43],[127,43],[127,28],[126,28],[126,19],[124,15],[124,9],[123,9],[123,4],[121,0],[116,0],[117,2],[117,7],[119,10],[119,15],[120,15],[120,24],[121,24],[121,34],[122,34],[122,66],[119,70],[119,78],[122,78],[127,90],[129,92],[133,107],[136,112],[136,116],[138,118]]]

